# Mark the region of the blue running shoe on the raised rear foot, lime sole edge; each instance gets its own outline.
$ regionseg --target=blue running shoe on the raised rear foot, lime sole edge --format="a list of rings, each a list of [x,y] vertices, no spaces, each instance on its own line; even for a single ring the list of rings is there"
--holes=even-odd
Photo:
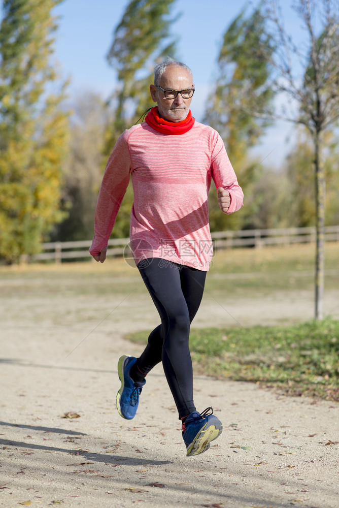
[[[121,381],[120,390],[117,393],[117,409],[119,415],[126,420],[132,420],[137,412],[139,405],[139,397],[142,387],[146,383],[134,382],[130,377],[130,369],[137,361],[133,356],[121,356],[118,362],[118,374]]]

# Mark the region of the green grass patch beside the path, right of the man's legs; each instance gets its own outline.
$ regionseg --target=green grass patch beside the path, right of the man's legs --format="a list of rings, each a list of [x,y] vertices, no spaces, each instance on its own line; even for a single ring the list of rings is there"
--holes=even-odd
[[[145,336],[127,338],[145,342]],[[192,329],[190,350],[196,373],[339,401],[339,321]]]

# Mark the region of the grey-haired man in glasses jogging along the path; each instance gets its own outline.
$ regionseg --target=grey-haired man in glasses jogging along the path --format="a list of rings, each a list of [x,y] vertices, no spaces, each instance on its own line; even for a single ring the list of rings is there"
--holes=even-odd
[[[219,134],[192,117],[191,70],[168,58],[155,67],[150,92],[157,107],[145,122],[120,136],[107,163],[90,253],[96,261],[105,261],[131,175],[131,250],[161,324],[151,332],[139,358],[119,359],[117,408],[123,418],[134,418],[146,374],[162,362],[190,456],[206,451],[222,431],[212,408],[196,411],[188,347],[190,324],[212,258],[208,191],[213,179],[226,214],[243,206],[243,192]]]

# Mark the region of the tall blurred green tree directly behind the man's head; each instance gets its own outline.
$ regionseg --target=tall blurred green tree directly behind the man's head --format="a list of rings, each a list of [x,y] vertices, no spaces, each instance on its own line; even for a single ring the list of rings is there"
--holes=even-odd
[[[169,16],[174,2],[131,0],[114,31],[107,59],[117,72],[118,86],[112,97],[115,118],[108,151],[122,131],[152,106],[149,84],[154,64],[175,53],[175,41],[169,37],[169,26],[175,21]]]

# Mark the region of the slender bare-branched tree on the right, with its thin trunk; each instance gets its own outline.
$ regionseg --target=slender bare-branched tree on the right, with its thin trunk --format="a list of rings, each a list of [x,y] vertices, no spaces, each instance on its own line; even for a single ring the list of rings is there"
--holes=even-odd
[[[267,117],[303,125],[313,144],[316,190],[315,319],[323,319],[325,266],[325,132],[339,118],[339,2],[294,0],[292,8],[304,30],[302,41],[293,41],[284,26],[279,0],[264,3],[267,29],[274,40],[273,56],[263,55],[273,66],[272,87],[283,106]],[[255,114],[255,112],[254,112]],[[259,115],[259,113],[258,113]]]

